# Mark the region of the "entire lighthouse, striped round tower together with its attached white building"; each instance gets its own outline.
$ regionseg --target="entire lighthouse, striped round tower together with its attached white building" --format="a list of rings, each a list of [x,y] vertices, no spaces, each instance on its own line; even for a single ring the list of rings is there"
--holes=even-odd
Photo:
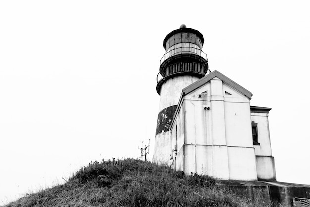
[[[164,39],[153,161],[186,174],[276,180],[271,109],[250,106],[252,93],[220,72],[206,75],[203,44],[203,35],[185,25]]]

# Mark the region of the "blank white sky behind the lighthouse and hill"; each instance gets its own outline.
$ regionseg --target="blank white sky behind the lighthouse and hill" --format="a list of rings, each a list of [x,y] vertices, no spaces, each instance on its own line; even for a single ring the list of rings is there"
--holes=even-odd
[[[310,184],[307,0],[0,1],[0,205],[91,161],[152,158],[163,39],[200,31],[209,69],[270,107],[277,180]],[[150,160],[151,160],[150,158]],[[64,178],[64,179],[63,179]]]

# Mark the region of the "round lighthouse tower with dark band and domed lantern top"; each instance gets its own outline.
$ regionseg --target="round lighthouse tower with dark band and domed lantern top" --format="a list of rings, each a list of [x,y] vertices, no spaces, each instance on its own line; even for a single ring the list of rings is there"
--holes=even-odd
[[[166,53],[160,60],[157,93],[160,95],[153,162],[169,164],[169,128],[181,91],[208,71],[207,55],[202,51],[203,35],[184,24],[163,40]]]

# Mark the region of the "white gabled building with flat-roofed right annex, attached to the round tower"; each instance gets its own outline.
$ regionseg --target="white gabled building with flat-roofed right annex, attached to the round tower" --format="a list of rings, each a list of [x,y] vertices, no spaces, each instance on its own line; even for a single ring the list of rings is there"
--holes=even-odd
[[[182,90],[170,126],[173,168],[219,179],[276,180],[270,108],[218,71]]]

